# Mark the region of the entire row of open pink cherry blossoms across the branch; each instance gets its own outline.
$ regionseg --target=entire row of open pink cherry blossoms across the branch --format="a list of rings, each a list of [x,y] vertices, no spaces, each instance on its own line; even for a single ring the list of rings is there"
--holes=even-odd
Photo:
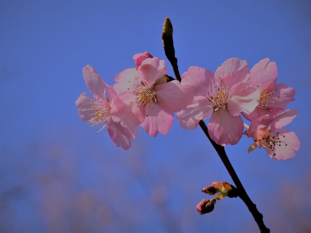
[[[263,148],[272,159],[292,158],[299,149],[295,133],[281,130],[298,114],[295,109],[285,110],[295,91],[276,83],[276,63],[269,58],[251,70],[238,58],[226,60],[215,72],[192,66],[182,74],[181,83],[167,75],[164,60],[148,52],[133,58],[136,67],[117,74],[112,86],[93,67],[84,67],[83,77],[93,100],[82,93],[76,101],[79,116],[90,127],[106,128],[116,146],[128,150],[138,125],[152,136],[167,134],[178,112],[180,126],[189,130],[210,117],[208,133],[222,146],[237,144],[245,134],[255,142],[248,152]],[[243,123],[242,116],[250,126]]]

